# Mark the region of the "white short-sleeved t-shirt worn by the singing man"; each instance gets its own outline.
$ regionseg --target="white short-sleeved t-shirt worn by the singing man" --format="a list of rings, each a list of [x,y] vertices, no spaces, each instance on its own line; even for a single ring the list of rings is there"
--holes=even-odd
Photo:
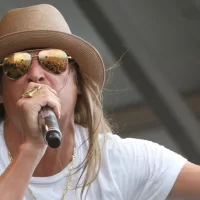
[[[10,161],[0,124],[0,173]],[[169,194],[181,168],[186,163],[182,156],[156,143],[140,139],[121,139],[114,134],[103,135],[102,166],[93,182],[87,200],[164,200]],[[87,129],[76,125],[76,160],[80,164],[87,153]],[[38,200],[60,200],[66,186],[70,164],[60,173],[50,177],[32,177],[29,187]],[[23,170],[23,169],[22,169]],[[81,172],[72,175],[65,199],[80,199],[80,189],[75,186]],[[26,193],[24,200],[32,200]]]

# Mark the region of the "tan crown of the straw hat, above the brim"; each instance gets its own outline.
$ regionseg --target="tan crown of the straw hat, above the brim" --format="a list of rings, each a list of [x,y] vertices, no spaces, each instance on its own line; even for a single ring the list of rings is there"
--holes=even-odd
[[[0,37],[17,32],[38,30],[53,30],[71,34],[62,14],[48,4],[10,10],[0,21]]]

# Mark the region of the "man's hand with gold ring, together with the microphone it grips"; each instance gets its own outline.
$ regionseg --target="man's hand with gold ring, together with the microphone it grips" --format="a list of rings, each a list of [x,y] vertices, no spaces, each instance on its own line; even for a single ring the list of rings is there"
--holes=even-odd
[[[38,144],[47,144],[51,148],[60,146],[62,134],[57,121],[60,103],[55,90],[48,85],[29,83],[18,107],[20,123],[27,141],[34,144],[37,141]]]

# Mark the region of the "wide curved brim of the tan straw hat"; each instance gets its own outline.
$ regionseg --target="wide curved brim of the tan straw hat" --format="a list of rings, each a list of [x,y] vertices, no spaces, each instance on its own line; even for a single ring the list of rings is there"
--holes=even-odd
[[[17,32],[0,37],[0,61],[10,53],[32,48],[59,48],[76,60],[80,71],[103,88],[105,70],[98,51],[82,38],[64,32],[37,30]]]

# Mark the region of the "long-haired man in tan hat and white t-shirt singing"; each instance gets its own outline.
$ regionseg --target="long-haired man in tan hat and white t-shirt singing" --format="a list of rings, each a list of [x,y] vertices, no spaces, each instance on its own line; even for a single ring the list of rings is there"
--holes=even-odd
[[[0,22],[4,200],[199,199],[200,167],[158,144],[111,133],[101,107],[104,65],[50,5],[9,11]],[[57,117],[47,145],[38,115]]]

